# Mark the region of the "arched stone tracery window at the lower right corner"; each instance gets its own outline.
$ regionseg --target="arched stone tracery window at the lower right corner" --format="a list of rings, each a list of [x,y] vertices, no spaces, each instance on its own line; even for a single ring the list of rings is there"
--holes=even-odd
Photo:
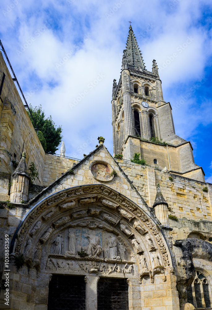
[[[206,277],[196,272],[193,283],[187,290],[188,303],[192,303],[195,308],[210,308],[209,284]]]

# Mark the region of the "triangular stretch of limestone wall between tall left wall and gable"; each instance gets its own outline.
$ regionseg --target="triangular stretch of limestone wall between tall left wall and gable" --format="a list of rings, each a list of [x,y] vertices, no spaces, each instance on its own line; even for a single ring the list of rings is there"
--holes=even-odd
[[[43,170],[43,185],[48,186],[59,178],[62,173],[70,169],[77,160],[57,155],[45,154],[45,163]]]

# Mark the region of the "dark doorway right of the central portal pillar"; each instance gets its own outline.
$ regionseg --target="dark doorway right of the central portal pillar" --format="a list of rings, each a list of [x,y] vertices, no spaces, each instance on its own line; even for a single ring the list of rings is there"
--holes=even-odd
[[[97,310],[129,310],[128,285],[124,279],[100,278]]]

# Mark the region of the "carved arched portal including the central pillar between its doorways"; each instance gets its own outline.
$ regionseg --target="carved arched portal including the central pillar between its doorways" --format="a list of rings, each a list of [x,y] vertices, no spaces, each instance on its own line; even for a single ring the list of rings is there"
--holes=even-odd
[[[133,201],[103,184],[44,198],[25,215],[16,234],[12,255],[23,254],[37,277],[84,277],[86,309],[97,309],[99,278],[123,279],[129,300],[135,291],[141,296],[143,280],[149,279],[149,285],[155,277],[171,281],[171,255],[157,225]]]

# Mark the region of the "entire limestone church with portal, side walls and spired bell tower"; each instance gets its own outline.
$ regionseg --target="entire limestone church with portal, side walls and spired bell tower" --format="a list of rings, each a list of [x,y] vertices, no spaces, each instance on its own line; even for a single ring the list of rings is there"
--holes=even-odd
[[[212,184],[175,135],[156,62],[146,71],[131,26],[112,100],[123,159],[102,137],[80,161],[45,154],[0,60],[0,308],[210,309]],[[167,145],[150,141],[153,129]],[[149,165],[129,161],[135,152]]]

